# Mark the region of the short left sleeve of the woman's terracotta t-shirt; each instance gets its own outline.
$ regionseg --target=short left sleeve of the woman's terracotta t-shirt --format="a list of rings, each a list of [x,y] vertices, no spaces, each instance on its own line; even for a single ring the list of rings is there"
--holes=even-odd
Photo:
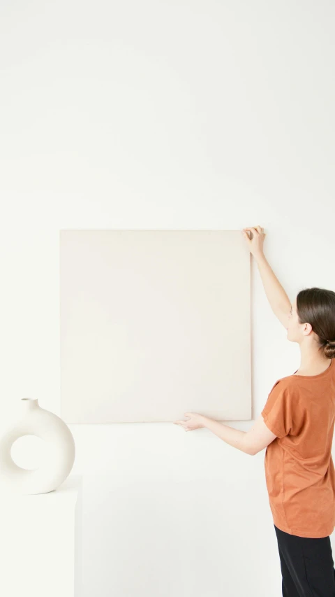
[[[285,381],[277,381],[261,414],[266,426],[279,438],[288,435],[292,429],[292,406],[290,388]]]

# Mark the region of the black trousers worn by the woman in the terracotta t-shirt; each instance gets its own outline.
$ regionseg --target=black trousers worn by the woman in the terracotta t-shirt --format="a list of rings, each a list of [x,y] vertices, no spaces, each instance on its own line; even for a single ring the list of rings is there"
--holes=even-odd
[[[330,537],[320,539],[284,533],[274,525],[283,597],[335,597],[335,570]]]

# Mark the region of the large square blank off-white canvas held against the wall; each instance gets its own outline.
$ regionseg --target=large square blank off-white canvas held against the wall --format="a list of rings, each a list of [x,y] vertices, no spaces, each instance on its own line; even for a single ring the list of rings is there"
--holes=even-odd
[[[61,418],[251,419],[239,230],[61,230]]]

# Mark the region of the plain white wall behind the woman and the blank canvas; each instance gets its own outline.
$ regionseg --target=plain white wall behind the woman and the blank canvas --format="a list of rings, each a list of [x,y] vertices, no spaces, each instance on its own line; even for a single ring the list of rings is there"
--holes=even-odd
[[[1,3],[1,426],[22,397],[59,414],[60,228],[260,224],[291,298],[334,289],[334,16],[329,1]],[[299,348],[251,276],[256,419]],[[82,597],[280,594],[265,451],[171,423],[70,429]],[[27,442],[13,455],[33,468]]]

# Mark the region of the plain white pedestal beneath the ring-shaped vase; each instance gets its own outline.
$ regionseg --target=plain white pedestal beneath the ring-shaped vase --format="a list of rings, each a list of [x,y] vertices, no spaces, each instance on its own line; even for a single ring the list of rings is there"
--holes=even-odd
[[[0,595],[80,597],[82,477],[55,491],[0,496]]]

